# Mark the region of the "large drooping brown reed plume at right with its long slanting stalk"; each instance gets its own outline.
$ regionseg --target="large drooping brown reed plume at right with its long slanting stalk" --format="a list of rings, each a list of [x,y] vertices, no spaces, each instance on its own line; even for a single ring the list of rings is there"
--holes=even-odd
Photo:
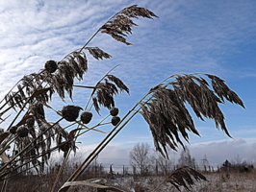
[[[210,76],[206,74],[206,76]],[[155,141],[155,147],[156,150],[159,151],[163,156],[166,156],[166,145],[169,145],[173,150],[176,150],[177,143],[181,144],[183,146],[182,140],[179,138],[178,132],[181,132],[183,137],[189,141],[188,133],[186,132],[193,132],[195,134],[199,134],[199,132],[196,131],[195,127],[192,123],[192,117],[188,111],[187,108],[185,108],[184,102],[188,102],[191,104],[194,112],[197,114],[197,117],[202,119],[202,116],[205,116],[206,118],[213,118],[216,121],[217,128],[218,125],[221,126],[221,129],[229,135],[227,132],[227,129],[225,127],[225,124],[223,122],[223,115],[220,109],[218,108],[218,103],[223,103],[223,101],[220,101],[218,97],[214,94],[214,92],[208,88],[208,83],[202,79],[201,77],[196,77],[195,75],[174,75],[170,76],[170,78],[175,77],[175,80],[170,83],[161,83],[157,86],[150,89],[148,93],[145,94],[145,96],[142,97],[141,101],[138,103],[141,106],[141,114],[149,124],[150,130],[152,132],[152,136]],[[210,76],[211,79],[213,76]],[[168,78],[169,79],[169,78]],[[167,79],[167,80],[168,80]],[[195,84],[193,80],[198,81],[198,84]],[[220,81],[220,79],[219,79]],[[222,81],[220,81],[222,84]],[[217,84],[217,83],[216,83]],[[168,85],[172,85],[174,87],[174,90],[167,88]],[[213,85],[214,86],[214,85]],[[224,85],[222,85],[224,86]],[[222,95],[230,101],[234,102],[242,107],[243,102],[242,100],[235,95],[227,96],[227,94],[234,95],[233,91],[231,91],[229,88],[225,87],[225,90],[228,92],[222,92]],[[200,92],[198,94],[198,92]],[[206,98],[205,98],[206,96]],[[221,96],[219,94],[219,96]],[[149,97],[149,98],[147,98]],[[147,99],[146,99],[147,98]],[[204,98],[204,99],[202,99]],[[146,99],[146,101],[143,101]],[[200,103],[200,105],[196,104],[195,102],[203,101],[205,103]],[[206,106],[209,106],[210,108],[205,108]],[[135,108],[137,105],[135,106]],[[167,108],[166,108],[167,107]],[[122,121],[130,114],[131,111],[133,111],[135,108],[130,110],[121,120],[121,122],[118,125],[121,125]],[[140,109],[139,109],[140,110]],[[137,110],[137,112],[139,112]],[[153,110],[153,111],[152,111]],[[215,112],[218,111],[218,116],[215,116]],[[90,162],[98,156],[98,154],[101,152],[101,150],[104,149],[104,147],[115,137],[115,135],[121,131],[121,129],[128,123],[131,118],[137,113],[135,112],[125,123],[122,125],[113,135],[113,132],[110,132],[105,139],[95,148],[95,150],[86,158],[86,160],[81,164],[81,166],[73,173],[73,175],[66,180],[67,182],[77,180],[77,178],[81,175],[81,173],[89,166]],[[182,113],[181,113],[182,112]],[[152,116],[154,114],[154,116]],[[168,119],[171,119],[169,122]],[[174,121],[174,122],[172,122]],[[163,124],[163,125],[162,125]],[[168,126],[172,126],[168,128]],[[173,127],[175,126],[175,127]],[[163,129],[162,129],[163,128]],[[159,129],[161,129],[159,131]],[[158,133],[154,133],[158,132]],[[159,136],[159,134],[161,136]],[[166,135],[165,135],[166,134]],[[175,137],[173,137],[174,135]],[[160,148],[160,145],[162,145],[164,151],[162,148]],[[165,153],[164,153],[165,152]],[[182,179],[186,180],[186,177],[188,177],[188,174],[195,174],[193,176],[196,176],[196,173],[192,172],[191,169],[183,169],[184,174],[181,177]],[[176,172],[175,172],[176,173]],[[180,172],[179,172],[180,173]],[[186,175],[187,174],[187,175]],[[173,175],[172,175],[173,176]],[[176,176],[176,175],[174,175]],[[178,175],[177,175],[178,176]],[[199,175],[198,175],[199,177]],[[188,179],[189,180],[189,179]],[[187,181],[188,181],[187,180]],[[184,184],[179,182],[179,184]],[[186,184],[183,185],[186,187]],[[60,192],[64,192],[67,190],[68,187],[65,189],[62,188]]]

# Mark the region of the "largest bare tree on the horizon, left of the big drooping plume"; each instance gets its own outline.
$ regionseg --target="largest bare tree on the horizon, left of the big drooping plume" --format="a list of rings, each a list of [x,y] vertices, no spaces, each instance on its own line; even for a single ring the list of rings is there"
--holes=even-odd
[[[148,173],[150,167],[149,151],[148,143],[137,143],[130,152],[130,164],[139,167],[142,176]]]

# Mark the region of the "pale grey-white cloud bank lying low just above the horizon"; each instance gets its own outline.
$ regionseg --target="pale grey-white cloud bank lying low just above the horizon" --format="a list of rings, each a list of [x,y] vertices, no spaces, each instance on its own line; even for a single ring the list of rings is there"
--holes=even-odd
[[[142,142],[142,141],[141,141]],[[256,164],[256,155],[254,153],[256,143],[247,142],[244,139],[234,139],[232,141],[217,141],[209,143],[198,143],[189,145],[189,149],[192,157],[195,158],[196,163],[201,166],[202,159],[207,158],[210,165],[217,168],[228,159],[230,162],[236,162],[238,156],[241,162],[246,161],[247,163]],[[96,145],[89,145],[80,147],[78,155],[83,154],[82,160],[90,155]],[[122,143],[108,145],[102,153],[97,157],[97,161],[103,165],[129,165],[129,153],[133,149],[133,146],[124,147]],[[152,148],[153,149],[153,148]],[[169,157],[177,162],[182,148],[179,149],[178,153],[174,151],[169,152]]]

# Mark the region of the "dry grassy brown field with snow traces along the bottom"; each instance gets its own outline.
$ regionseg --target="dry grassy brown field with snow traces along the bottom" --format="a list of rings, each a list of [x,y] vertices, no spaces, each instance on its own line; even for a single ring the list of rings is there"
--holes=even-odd
[[[255,192],[256,191],[256,173],[205,173],[204,176],[208,181],[198,181],[196,185],[192,186],[192,192]],[[39,191],[50,191],[50,187],[53,184],[55,174],[51,173],[41,177],[38,176],[20,176],[13,180],[9,180],[7,192],[39,192]],[[82,175],[81,180],[86,180],[90,176]],[[109,177],[108,175],[102,177]],[[65,176],[60,181],[64,181]],[[149,192],[153,191],[164,177],[160,176],[148,176],[136,178],[132,176],[114,176],[113,179],[108,178],[115,185],[120,185],[129,189],[131,192]],[[1,186],[0,182],[0,186]],[[61,183],[58,184],[61,186]],[[186,191],[184,188],[180,188],[182,192]],[[73,186],[69,191],[76,192],[97,192],[96,188],[88,186]],[[157,192],[169,191],[178,192],[178,190],[171,184],[165,183],[157,190]]]

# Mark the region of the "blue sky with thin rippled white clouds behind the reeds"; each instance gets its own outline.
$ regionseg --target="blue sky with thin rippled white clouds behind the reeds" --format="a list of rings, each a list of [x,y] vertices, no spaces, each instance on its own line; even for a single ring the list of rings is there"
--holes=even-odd
[[[113,74],[130,88],[130,94],[115,98],[115,106],[123,116],[152,86],[177,73],[208,73],[217,75],[242,98],[245,109],[226,103],[221,105],[225,123],[233,138],[215,128],[211,120],[194,123],[201,137],[190,134],[192,156],[207,156],[218,165],[225,159],[241,156],[256,163],[256,2],[247,1],[136,1],[136,0],[28,0],[0,1],[0,98],[24,75],[38,72],[46,60],[62,60],[81,48],[111,16],[125,7],[139,5],[159,18],[135,19],[139,26],[127,46],[111,36],[98,34],[89,46],[97,46],[113,56],[110,60],[94,60],[88,55],[89,71],[81,85],[95,84],[115,65]],[[74,88],[73,105],[86,105],[90,90]],[[54,97],[51,106],[62,109]],[[101,116],[94,113],[93,123]],[[49,112],[55,121],[58,116]],[[6,123],[0,126],[5,128]],[[109,132],[112,127],[100,128]],[[86,154],[105,136],[88,132],[78,138],[81,152]],[[140,114],[118,133],[99,156],[105,162],[125,161],[138,142],[153,148],[152,136]],[[179,148],[182,151],[182,148]],[[174,155],[173,155],[174,156]],[[178,155],[177,155],[178,156]]]

